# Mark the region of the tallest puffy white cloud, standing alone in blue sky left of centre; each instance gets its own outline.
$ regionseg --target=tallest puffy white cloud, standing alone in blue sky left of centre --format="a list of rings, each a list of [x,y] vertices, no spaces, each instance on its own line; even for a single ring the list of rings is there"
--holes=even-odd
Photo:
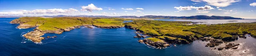
[[[97,8],[93,4],[90,4],[88,6],[82,6],[81,8],[82,8],[81,11],[89,11],[89,12],[92,12],[93,10],[98,10],[98,11],[102,10],[102,8]]]

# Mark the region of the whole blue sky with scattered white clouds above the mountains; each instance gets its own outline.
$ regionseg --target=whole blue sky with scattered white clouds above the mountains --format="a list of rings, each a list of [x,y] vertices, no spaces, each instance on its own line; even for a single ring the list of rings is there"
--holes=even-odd
[[[0,0],[0,16],[232,16],[256,19],[256,0]]]

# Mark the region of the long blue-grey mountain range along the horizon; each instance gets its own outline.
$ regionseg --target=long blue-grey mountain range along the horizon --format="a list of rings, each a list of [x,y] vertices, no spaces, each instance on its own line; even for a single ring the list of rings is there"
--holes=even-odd
[[[0,16],[0,18],[19,18],[19,17],[35,17],[35,16]],[[66,16],[66,15],[57,15],[57,16],[36,16],[36,17],[102,17],[102,18],[150,18],[150,19],[241,19],[241,18],[234,18],[230,16],[205,16],[205,15],[198,15],[198,16]]]

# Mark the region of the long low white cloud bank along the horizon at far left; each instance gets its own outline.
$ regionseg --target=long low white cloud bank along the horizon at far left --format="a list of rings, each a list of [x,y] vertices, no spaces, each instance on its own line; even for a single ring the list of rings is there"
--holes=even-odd
[[[0,12],[0,15],[22,15],[22,14],[44,14],[44,13],[73,13],[78,10],[70,9],[36,9],[32,11],[22,10],[22,11],[11,11],[11,12]]]

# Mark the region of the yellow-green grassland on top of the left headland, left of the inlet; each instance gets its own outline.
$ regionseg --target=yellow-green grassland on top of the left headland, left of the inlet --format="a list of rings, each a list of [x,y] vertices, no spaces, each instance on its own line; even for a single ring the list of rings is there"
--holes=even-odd
[[[99,26],[120,26],[122,21],[127,19],[117,18],[86,18],[86,17],[58,17],[58,18],[41,18],[41,17],[22,17],[20,22],[29,25],[40,25],[41,30],[57,30],[57,28],[65,29],[83,24],[95,24]]]

